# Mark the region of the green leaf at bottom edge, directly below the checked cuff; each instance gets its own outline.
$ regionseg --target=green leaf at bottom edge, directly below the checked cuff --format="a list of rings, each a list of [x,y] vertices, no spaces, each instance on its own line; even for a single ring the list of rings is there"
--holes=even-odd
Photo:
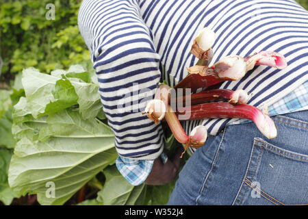
[[[106,182],[103,190],[98,192],[97,201],[103,205],[143,205],[140,197],[143,197],[146,185],[133,186],[120,175],[116,166],[110,166],[104,171]]]

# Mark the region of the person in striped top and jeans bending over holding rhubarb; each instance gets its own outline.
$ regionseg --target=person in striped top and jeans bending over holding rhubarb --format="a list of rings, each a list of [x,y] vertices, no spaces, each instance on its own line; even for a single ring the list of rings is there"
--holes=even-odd
[[[166,157],[162,124],[142,114],[159,82],[175,86],[196,64],[190,53],[199,29],[216,33],[212,63],[258,51],[285,55],[287,68],[257,66],[220,88],[253,94],[268,105],[278,137],[253,123],[218,118],[211,136],[188,159],[168,205],[303,205],[308,203],[308,13],[292,0],[84,0],[79,29],[97,72],[99,94],[115,134],[116,166],[132,185],[173,181],[179,154]]]

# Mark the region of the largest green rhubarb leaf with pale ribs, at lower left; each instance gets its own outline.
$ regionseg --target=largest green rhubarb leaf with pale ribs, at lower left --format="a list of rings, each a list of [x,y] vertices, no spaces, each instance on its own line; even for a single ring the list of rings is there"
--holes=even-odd
[[[17,106],[27,105],[21,99]],[[38,194],[42,205],[61,205],[117,157],[110,127],[96,118],[84,120],[77,110],[35,119],[16,109],[18,138],[9,183],[20,195]],[[47,183],[54,183],[49,198]]]

